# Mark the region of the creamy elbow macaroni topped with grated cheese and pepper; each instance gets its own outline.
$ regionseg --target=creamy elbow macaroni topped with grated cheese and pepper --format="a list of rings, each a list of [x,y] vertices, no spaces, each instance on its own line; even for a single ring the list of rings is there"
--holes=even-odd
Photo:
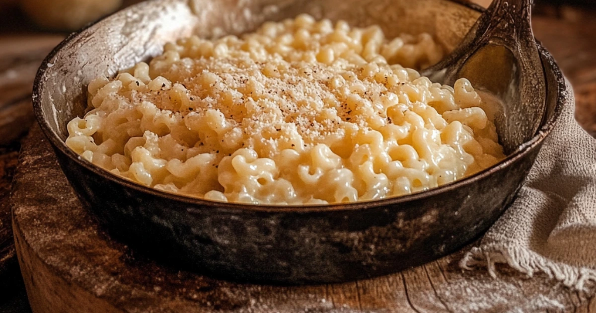
[[[139,184],[253,204],[401,196],[504,158],[495,103],[466,79],[416,70],[430,35],[386,39],[302,15],[254,33],[166,44],[149,64],[89,83],[66,144]]]

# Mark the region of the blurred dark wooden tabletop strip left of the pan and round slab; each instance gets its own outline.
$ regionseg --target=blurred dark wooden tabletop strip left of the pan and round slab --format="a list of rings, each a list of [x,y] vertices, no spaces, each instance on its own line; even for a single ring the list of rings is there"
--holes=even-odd
[[[14,2],[14,1],[13,1]],[[18,28],[14,10],[0,4],[0,29]],[[6,14],[6,15],[5,15]],[[5,16],[10,16],[5,18]],[[39,64],[64,35],[0,33],[0,312],[30,311],[15,255],[9,196],[20,139],[33,123],[32,83]]]

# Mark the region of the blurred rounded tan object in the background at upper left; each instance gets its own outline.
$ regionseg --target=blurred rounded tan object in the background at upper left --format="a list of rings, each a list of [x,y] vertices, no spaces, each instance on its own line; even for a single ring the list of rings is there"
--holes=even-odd
[[[53,30],[77,30],[113,13],[122,5],[122,0],[18,0],[18,2],[24,13],[35,23]]]

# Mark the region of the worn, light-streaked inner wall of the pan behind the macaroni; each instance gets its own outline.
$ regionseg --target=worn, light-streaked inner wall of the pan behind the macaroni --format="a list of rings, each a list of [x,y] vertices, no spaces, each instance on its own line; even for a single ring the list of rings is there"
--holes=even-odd
[[[358,10],[354,10],[358,7]],[[452,49],[479,12],[447,0],[154,0],[135,5],[75,33],[42,64],[38,81],[42,117],[61,140],[67,123],[86,109],[86,85],[98,76],[149,60],[166,42],[198,35],[213,38],[256,29],[309,13],[316,18],[346,20],[354,26],[379,24],[391,38],[428,32]]]

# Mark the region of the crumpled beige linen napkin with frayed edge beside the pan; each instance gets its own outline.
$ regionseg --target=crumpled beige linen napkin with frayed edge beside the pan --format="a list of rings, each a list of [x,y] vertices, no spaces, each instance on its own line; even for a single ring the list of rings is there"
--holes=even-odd
[[[544,272],[578,291],[595,285],[596,140],[578,125],[574,109],[569,95],[516,200],[466,253],[462,268],[486,266],[496,277],[495,264],[502,263],[530,277]]]

